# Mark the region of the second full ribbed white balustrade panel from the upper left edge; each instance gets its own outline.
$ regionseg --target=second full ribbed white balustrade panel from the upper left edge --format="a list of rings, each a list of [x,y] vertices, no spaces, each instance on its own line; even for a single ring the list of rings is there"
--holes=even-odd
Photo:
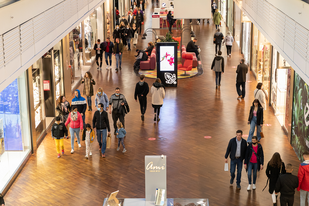
[[[19,27],[20,29],[20,48],[21,48],[21,63],[24,65],[29,59],[34,57],[34,32],[33,20],[30,19]]]

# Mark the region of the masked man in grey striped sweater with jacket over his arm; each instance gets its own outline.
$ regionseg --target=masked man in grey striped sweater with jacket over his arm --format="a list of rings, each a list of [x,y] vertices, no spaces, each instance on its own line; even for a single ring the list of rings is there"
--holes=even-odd
[[[123,101],[125,100],[125,96],[120,94],[120,89],[119,87],[116,87],[115,89],[115,94],[113,94],[110,99],[109,99],[109,113],[112,114],[112,118],[113,118],[113,122],[114,122],[114,134],[116,134],[116,129],[117,129],[117,121],[119,119],[119,121],[122,123],[123,128],[125,128],[125,116],[123,114],[119,113],[119,109],[120,106],[125,105],[125,103],[123,103]]]

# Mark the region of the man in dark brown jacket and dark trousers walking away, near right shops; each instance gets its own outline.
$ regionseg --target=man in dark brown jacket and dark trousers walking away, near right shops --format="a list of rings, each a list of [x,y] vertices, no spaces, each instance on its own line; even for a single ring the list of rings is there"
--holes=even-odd
[[[240,59],[240,64],[237,66],[236,73],[236,91],[238,94],[237,99],[244,99],[246,95],[246,75],[248,73],[248,65],[245,64],[244,59]]]

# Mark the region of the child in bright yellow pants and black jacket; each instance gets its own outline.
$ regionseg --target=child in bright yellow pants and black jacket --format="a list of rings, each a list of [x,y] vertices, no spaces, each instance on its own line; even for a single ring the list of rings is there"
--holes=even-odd
[[[64,154],[64,145],[63,145],[63,138],[64,136],[68,137],[68,129],[66,128],[66,125],[61,122],[61,119],[59,116],[56,117],[56,122],[52,126],[52,137],[55,139],[56,143],[56,149],[57,149],[57,158],[60,158],[60,147],[61,152]]]

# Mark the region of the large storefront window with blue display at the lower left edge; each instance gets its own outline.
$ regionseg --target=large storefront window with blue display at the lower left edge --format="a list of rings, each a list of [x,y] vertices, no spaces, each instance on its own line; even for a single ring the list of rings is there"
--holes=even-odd
[[[25,77],[0,92],[0,191],[31,150]]]

